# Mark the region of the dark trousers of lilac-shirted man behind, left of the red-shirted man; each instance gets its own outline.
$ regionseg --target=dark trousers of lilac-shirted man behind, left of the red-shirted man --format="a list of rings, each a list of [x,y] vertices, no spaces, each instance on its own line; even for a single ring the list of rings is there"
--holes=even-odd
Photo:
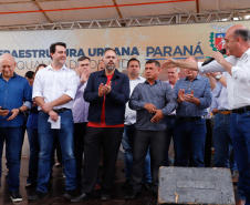
[[[84,135],[85,123],[74,123],[74,157],[76,161],[76,182],[81,186],[82,182],[82,165],[83,165],[83,150],[84,150]]]

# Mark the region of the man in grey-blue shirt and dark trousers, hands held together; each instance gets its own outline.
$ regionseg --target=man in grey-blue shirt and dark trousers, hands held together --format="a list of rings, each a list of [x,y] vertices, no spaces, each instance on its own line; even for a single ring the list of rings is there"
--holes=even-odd
[[[158,170],[166,164],[166,115],[177,107],[176,95],[170,85],[158,79],[160,64],[148,60],[145,65],[146,81],[134,89],[129,107],[136,111],[132,191],[126,199],[134,199],[142,189],[145,156],[150,146],[152,191],[158,189]]]

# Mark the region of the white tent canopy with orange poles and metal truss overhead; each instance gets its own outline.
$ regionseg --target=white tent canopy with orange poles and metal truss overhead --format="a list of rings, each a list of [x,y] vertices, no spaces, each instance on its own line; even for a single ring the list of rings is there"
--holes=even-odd
[[[194,23],[247,20],[250,1],[1,0],[0,14],[0,30]]]

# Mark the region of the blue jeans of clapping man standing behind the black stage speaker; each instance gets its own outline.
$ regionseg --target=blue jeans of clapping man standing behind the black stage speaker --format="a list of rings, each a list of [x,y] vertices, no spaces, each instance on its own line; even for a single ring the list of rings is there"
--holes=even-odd
[[[176,166],[204,167],[206,121],[176,119]]]

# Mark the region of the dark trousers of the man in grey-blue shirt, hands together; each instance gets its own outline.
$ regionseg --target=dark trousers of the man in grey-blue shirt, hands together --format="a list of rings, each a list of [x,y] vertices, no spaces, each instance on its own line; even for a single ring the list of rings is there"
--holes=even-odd
[[[152,184],[153,191],[158,187],[158,170],[166,165],[167,137],[164,131],[140,131],[136,129],[134,137],[134,156],[131,184],[133,188],[140,191],[145,156],[150,146]]]

